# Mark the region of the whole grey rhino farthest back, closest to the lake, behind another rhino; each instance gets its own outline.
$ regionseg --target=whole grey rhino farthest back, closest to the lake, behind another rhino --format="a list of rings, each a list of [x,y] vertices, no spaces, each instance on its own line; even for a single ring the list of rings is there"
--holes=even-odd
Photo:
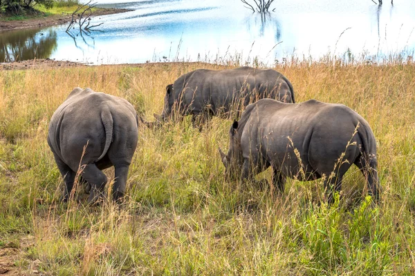
[[[241,67],[230,70],[199,69],[179,77],[166,87],[165,106],[158,120],[172,115],[218,115],[242,110],[258,99],[294,103],[290,81],[272,69]]]

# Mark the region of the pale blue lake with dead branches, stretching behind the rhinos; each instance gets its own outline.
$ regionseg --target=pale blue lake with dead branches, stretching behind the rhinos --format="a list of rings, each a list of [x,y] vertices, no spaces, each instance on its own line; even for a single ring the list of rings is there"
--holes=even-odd
[[[0,32],[0,62],[50,58],[86,63],[226,60],[272,65],[284,59],[413,55],[415,1],[276,0],[269,12],[239,0],[100,0],[131,12],[95,17],[91,33],[66,26]],[[376,1],[376,0],[375,0]],[[116,3],[114,3],[116,2]]]

